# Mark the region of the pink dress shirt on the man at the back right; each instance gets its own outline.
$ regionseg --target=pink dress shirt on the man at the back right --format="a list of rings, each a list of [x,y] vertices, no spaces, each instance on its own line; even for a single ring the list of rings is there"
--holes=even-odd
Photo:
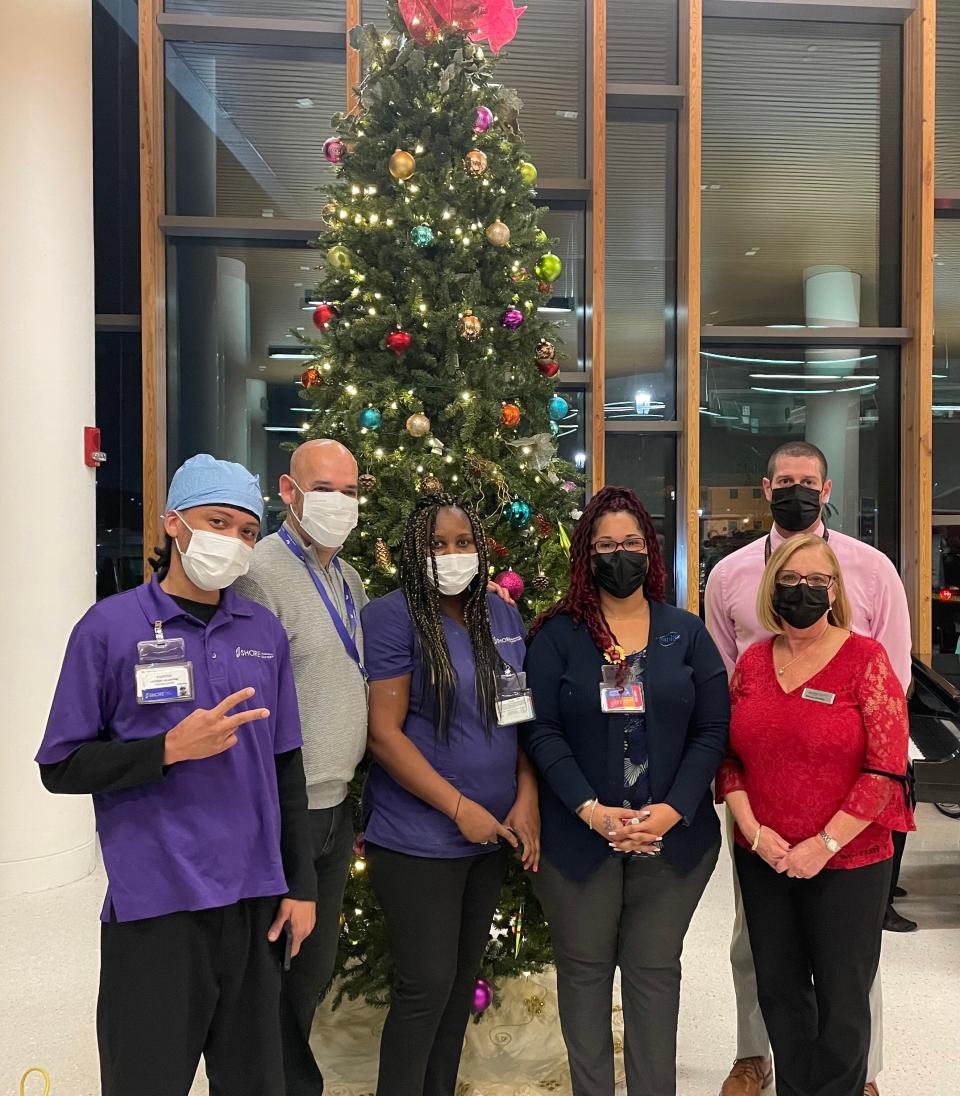
[[[823,526],[814,530],[823,535]],[[770,548],[784,543],[776,526],[770,530]],[[756,618],[756,595],[766,567],[761,537],[724,557],[710,572],[706,603],[707,630],[720,649],[727,673],[754,643],[769,639]],[[890,560],[870,545],[831,529],[830,547],[839,560],[853,618],[850,628],[876,639],[887,650],[900,684],[906,690],[911,678],[910,612],[900,575]]]

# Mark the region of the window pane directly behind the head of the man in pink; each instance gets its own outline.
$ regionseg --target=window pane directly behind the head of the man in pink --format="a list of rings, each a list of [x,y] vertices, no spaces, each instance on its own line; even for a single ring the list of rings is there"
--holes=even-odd
[[[770,528],[756,491],[790,441],[826,456],[827,524],[899,557],[900,378],[893,347],[709,346],[700,357],[700,571]]]

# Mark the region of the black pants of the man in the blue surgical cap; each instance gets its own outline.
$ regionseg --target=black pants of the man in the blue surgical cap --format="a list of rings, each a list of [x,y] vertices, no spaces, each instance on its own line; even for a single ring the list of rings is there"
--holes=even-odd
[[[103,1096],[283,1096],[276,898],[102,926]]]

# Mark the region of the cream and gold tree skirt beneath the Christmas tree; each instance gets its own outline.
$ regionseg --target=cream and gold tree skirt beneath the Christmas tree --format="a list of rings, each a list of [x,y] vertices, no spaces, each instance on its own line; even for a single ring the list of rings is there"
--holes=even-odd
[[[470,1023],[457,1096],[570,1094],[567,1051],[557,1015],[552,970],[512,979],[501,986],[500,1008]],[[344,1001],[333,1012],[328,995],[317,1012],[311,1039],[323,1071],[327,1096],[373,1096],[377,1087],[380,1031],[387,1013],[362,1001]],[[624,1016],[619,974],[613,1002],[617,1091],[624,1086]]]

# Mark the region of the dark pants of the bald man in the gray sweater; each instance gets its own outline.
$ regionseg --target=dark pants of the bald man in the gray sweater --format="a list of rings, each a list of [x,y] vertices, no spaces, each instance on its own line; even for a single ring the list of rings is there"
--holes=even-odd
[[[340,912],[353,849],[350,801],[310,811],[310,837],[317,870],[317,927],[283,975],[281,992],[287,1096],[321,1096],[323,1092],[323,1075],[310,1049],[310,1028],[336,964]]]

